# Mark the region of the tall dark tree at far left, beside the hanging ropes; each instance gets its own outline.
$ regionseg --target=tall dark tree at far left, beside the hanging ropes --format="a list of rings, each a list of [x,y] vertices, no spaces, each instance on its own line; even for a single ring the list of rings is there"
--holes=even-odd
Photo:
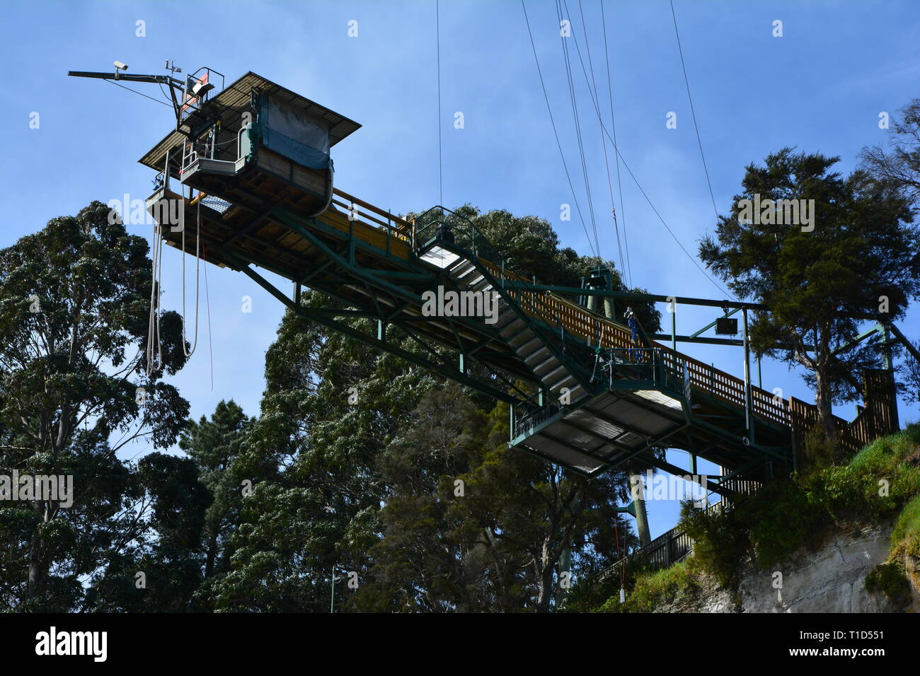
[[[145,375],[149,247],[109,213],[94,201],[0,250],[0,475],[71,475],[75,494],[0,508],[0,605],[18,611],[136,608],[138,561],[174,525],[151,500],[200,495],[184,472],[117,456],[173,444],[189,405],[160,379],[185,362],[175,313],[164,368]]]

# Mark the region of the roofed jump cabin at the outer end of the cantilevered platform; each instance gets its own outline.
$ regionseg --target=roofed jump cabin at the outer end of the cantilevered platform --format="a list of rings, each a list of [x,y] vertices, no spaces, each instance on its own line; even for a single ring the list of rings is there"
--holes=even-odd
[[[193,233],[201,219],[204,242],[225,243],[241,229],[270,228],[277,207],[305,218],[327,211],[331,148],[361,127],[252,72],[223,82],[209,68],[190,76],[176,130],[140,160],[157,172],[146,207],[172,246],[181,223]]]

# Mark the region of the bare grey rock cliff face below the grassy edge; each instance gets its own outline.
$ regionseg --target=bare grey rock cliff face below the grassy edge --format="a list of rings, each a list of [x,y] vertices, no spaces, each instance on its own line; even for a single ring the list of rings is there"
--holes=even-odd
[[[656,609],[661,613],[898,613],[884,593],[868,592],[866,576],[888,558],[891,527],[835,533],[817,551],[800,550],[774,570],[752,563],[742,572],[738,593],[703,580],[692,598]],[[780,573],[780,579],[776,573]],[[780,584],[781,588],[776,588]],[[910,611],[920,611],[914,589]]]

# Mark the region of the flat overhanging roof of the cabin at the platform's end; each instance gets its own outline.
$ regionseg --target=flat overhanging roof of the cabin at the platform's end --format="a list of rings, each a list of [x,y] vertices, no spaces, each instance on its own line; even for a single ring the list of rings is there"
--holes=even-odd
[[[311,101],[309,98],[302,97],[290,89],[278,85],[271,80],[267,80],[261,75],[249,71],[240,77],[236,82],[224,88],[217,96],[208,99],[204,103],[204,108],[211,113],[218,112],[224,127],[238,125],[242,114],[249,107],[249,101],[252,97],[252,90],[258,89],[260,92],[269,94],[272,97],[286,101],[295,108],[305,110],[310,115],[327,120],[331,128],[329,135],[329,145],[339,143],[352,132],[361,129],[361,125],[354,120],[339,115],[334,110],[330,110],[318,103]],[[181,126],[190,132],[205,120],[201,112],[191,113],[185,120],[182,120]],[[175,148],[186,140],[185,134],[173,131],[169,132],[162,141],[151,148],[139,162],[144,166],[161,171],[166,165],[166,154],[170,148]]]

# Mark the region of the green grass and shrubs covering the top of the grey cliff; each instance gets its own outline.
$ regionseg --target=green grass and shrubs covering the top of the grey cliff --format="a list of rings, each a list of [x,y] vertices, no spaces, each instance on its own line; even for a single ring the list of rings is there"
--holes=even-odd
[[[771,482],[755,496],[736,500],[733,510],[707,514],[684,505],[681,522],[695,541],[694,558],[665,570],[639,573],[627,591],[626,603],[621,604],[617,595],[598,610],[650,612],[696,590],[697,571],[733,588],[749,553],[758,567],[768,569],[803,546],[817,547],[834,526],[892,520],[890,563],[898,557],[903,561],[903,553],[920,558],[917,423],[872,442],[845,464]],[[876,577],[884,577],[883,572]]]

